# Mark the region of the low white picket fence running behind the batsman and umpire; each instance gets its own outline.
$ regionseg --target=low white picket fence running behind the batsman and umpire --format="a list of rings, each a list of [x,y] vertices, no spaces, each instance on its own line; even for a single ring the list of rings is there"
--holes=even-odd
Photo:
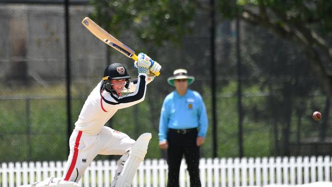
[[[61,177],[65,161],[1,163],[0,186],[19,186],[48,177]],[[202,158],[200,178],[202,186],[263,186],[268,184],[303,184],[331,181],[330,156],[264,157],[264,158]],[[93,161],[79,181],[81,186],[110,186],[116,161]],[[147,159],[139,166],[134,187],[157,187],[167,184],[167,162]],[[180,186],[189,186],[185,161],[180,170]]]

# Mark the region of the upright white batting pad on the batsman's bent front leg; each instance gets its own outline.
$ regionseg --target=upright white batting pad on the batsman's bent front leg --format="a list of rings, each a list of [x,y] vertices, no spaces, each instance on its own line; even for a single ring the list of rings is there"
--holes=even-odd
[[[125,166],[120,176],[117,178],[115,187],[130,187],[139,163],[144,160],[144,157],[148,152],[148,145],[151,137],[151,133],[144,133],[137,138],[137,141],[130,150]]]

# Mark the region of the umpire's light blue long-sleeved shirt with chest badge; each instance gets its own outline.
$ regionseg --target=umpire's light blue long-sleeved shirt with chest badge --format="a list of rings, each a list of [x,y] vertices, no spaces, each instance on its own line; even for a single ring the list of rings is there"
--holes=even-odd
[[[163,101],[159,121],[159,142],[167,140],[168,129],[198,127],[198,136],[205,138],[207,115],[204,101],[197,91],[188,89],[184,96],[171,92]]]

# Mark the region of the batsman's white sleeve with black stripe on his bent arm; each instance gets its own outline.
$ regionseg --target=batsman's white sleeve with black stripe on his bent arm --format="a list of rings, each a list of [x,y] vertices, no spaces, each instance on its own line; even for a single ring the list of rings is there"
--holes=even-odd
[[[114,109],[122,109],[133,106],[137,103],[144,101],[146,93],[146,77],[144,73],[138,74],[138,81],[136,89],[133,93],[130,93],[125,96],[116,97],[112,94],[107,94],[108,92],[102,93],[102,102],[103,106],[107,111]],[[138,89],[137,89],[138,88]]]

